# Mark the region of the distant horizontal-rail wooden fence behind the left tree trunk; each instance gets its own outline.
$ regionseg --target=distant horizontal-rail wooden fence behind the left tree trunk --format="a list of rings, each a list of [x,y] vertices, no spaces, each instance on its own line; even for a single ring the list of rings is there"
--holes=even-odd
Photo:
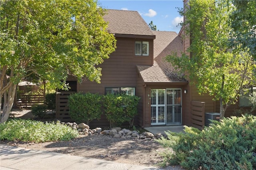
[[[21,94],[17,104],[20,107],[31,107],[33,105],[44,104],[44,101],[44,95]]]

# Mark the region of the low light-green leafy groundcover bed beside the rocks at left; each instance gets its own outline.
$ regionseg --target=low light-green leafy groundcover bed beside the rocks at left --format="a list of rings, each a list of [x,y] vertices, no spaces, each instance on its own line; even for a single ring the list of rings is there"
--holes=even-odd
[[[0,124],[0,140],[24,142],[69,141],[78,132],[60,123],[43,123],[26,119],[10,119]]]

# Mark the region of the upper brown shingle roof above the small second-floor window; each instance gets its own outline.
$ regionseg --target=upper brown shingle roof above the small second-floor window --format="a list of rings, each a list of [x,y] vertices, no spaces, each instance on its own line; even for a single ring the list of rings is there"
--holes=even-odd
[[[108,21],[108,31],[115,34],[154,35],[137,11],[107,10],[103,16]]]

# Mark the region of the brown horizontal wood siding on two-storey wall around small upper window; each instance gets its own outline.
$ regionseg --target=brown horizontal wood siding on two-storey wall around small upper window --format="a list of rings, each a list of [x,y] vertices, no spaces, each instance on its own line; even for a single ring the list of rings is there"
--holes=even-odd
[[[80,92],[105,93],[105,87],[136,87],[138,72],[136,65],[152,65],[153,39],[134,39],[117,37],[117,48],[100,64],[101,83],[83,81]],[[149,56],[135,56],[135,41],[149,41]]]

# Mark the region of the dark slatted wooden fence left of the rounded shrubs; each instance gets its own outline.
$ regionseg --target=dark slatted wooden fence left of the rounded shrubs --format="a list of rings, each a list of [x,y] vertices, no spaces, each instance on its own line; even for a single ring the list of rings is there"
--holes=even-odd
[[[58,92],[56,95],[56,118],[63,122],[72,121],[69,115],[68,96],[76,92]]]

